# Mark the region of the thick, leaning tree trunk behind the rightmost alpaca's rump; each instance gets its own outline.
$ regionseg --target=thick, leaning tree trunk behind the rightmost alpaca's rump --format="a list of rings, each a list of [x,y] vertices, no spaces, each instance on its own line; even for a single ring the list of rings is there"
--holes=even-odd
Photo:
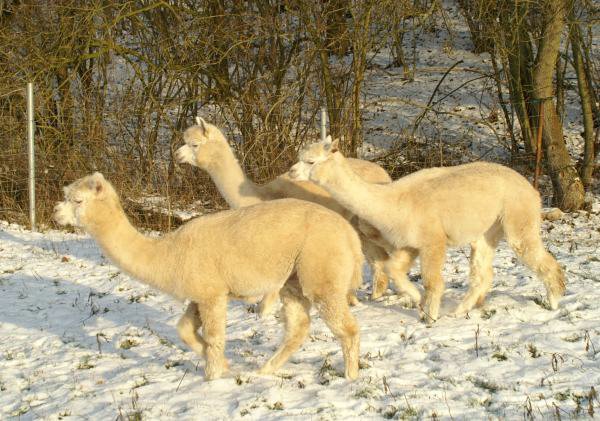
[[[563,139],[562,125],[551,98],[552,76],[565,24],[566,2],[548,0],[542,4],[546,26],[540,39],[533,71],[533,97],[544,107],[543,143],[548,173],[554,188],[554,203],[565,211],[583,206],[584,190]]]

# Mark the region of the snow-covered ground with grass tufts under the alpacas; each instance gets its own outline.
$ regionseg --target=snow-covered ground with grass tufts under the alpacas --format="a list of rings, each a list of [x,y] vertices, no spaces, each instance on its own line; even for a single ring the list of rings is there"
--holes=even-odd
[[[600,413],[600,201],[545,222],[566,268],[561,307],[501,243],[494,289],[467,318],[428,328],[398,296],[353,309],[360,378],[341,377],[338,342],[317,315],[277,376],[254,371],[277,347],[279,320],[231,303],[231,372],[205,382],[179,340],[183,304],[137,283],[87,236],[0,225],[0,419],[562,418]],[[449,312],[467,287],[468,250],[449,253]],[[420,282],[418,267],[413,280]],[[390,294],[391,291],[390,291]],[[592,389],[595,387],[595,389]]]

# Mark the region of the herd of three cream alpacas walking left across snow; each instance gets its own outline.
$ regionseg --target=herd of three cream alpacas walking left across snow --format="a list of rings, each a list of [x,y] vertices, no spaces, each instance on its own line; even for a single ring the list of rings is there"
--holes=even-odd
[[[176,158],[207,171],[231,210],[195,218],[162,237],[140,233],[100,173],[65,187],[60,225],[80,227],[124,272],[188,307],[179,336],[206,360],[206,379],[227,369],[229,299],[282,304],[283,342],[259,370],[278,370],[305,341],[314,305],[342,345],[347,379],[358,377],[358,302],[363,252],[373,269],[372,298],[392,280],[427,323],[439,317],[448,246],[471,246],[469,290],[453,315],[484,303],[501,238],[544,282],[556,309],[564,274],[540,236],[538,192],[517,172],[476,162],[417,171],[392,181],[380,166],[344,157],[337,142],[307,145],[299,162],[270,183],[249,180],[223,133],[202,118],[185,130]],[[423,292],[408,279],[419,257]],[[200,333],[201,329],[201,333]]]

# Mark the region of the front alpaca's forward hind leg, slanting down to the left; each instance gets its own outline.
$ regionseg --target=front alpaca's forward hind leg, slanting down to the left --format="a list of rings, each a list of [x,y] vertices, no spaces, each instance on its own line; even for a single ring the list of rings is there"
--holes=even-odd
[[[306,340],[310,328],[310,301],[303,295],[297,280],[291,280],[281,290],[282,313],[285,325],[285,338],[277,352],[259,370],[261,374],[271,374],[288,360]]]

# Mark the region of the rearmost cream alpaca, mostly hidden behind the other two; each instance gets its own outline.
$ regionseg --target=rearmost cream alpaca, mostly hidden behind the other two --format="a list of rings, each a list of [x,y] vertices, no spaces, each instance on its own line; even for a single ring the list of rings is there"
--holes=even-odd
[[[214,125],[202,118],[196,118],[197,125],[185,130],[183,138],[185,145],[176,152],[180,163],[187,163],[207,171],[215,182],[221,195],[229,206],[234,209],[261,203],[267,200],[286,197],[307,200],[323,205],[348,220],[353,218],[352,212],[345,209],[331,198],[329,193],[308,181],[296,181],[283,174],[267,184],[256,184],[244,174],[227,139]],[[389,183],[391,178],[379,165],[360,159],[348,159],[352,170],[362,179],[370,183]],[[387,288],[387,277],[383,264],[387,260],[386,251],[364,233],[377,233],[373,227],[362,222],[355,226],[359,228],[363,241],[363,250],[373,268],[373,298],[383,295]],[[260,313],[268,313],[277,299],[276,294],[265,297],[260,306]]]

